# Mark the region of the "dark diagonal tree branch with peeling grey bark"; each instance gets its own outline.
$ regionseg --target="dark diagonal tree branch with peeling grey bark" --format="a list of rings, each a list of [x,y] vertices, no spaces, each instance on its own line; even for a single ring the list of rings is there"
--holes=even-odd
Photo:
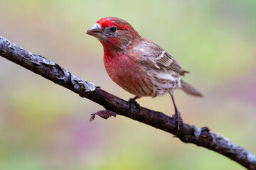
[[[83,81],[79,77],[65,71],[54,62],[46,60],[40,55],[34,55],[31,52],[23,50],[14,43],[6,40],[0,35],[0,55],[11,62],[15,62],[36,74],[53,81],[81,97],[88,98],[91,101],[99,103],[107,111],[113,111],[127,118],[132,118],[141,123],[151,125],[166,132],[176,135],[182,142],[193,143],[195,145],[206,147],[210,150],[225,155],[235,162],[238,162],[247,169],[256,169],[256,157],[246,149],[235,145],[227,138],[221,137],[208,128],[196,128],[193,125],[184,123],[183,128],[176,129],[176,120],[164,113],[151,111],[147,108],[130,109],[127,101],[107,93],[100,88],[96,88],[90,81]]]

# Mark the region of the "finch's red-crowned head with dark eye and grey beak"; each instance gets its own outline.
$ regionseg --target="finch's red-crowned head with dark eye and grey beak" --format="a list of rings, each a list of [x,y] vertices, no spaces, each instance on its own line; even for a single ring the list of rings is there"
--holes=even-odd
[[[140,38],[127,21],[115,17],[101,18],[86,33],[99,39],[103,47],[114,50],[125,50]]]

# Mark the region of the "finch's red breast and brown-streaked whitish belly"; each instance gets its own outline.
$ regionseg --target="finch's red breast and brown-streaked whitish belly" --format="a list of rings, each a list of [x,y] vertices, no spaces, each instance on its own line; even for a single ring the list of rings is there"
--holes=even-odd
[[[172,72],[157,72],[130,60],[105,59],[104,64],[116,84],[138,97],[164,95],[180,86],[180,77]]]

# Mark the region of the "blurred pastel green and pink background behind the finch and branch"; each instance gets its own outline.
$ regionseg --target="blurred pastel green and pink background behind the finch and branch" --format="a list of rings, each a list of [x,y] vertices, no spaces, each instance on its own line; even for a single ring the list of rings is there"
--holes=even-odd
[[[175,91],[183,120],[256,154],[256,1],[0,0],[0,35],[78,77],[129,99],[105,72],[102,45],[85,34],[123,18],[173,55],[204,98]],[[220,154],[102,110],[0,57],[0,169],[244,169]],[[141,106],[174,113],[169,95]]]

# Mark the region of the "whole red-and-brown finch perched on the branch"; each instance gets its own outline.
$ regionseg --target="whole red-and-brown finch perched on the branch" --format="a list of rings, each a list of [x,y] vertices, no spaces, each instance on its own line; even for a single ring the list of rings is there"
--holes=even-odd
[[[101,18],[86,33],[100,40],[107,74],[122,89],[135,95],[133,102],[143,96],[171,95],[175,108],[173,117],[179,129],[183,121],[174,101],[174,89],[182,89],[193,96],[202,94],[181,80],[187,72],[174,57],[156,43],[142,38],[120,18]]]

